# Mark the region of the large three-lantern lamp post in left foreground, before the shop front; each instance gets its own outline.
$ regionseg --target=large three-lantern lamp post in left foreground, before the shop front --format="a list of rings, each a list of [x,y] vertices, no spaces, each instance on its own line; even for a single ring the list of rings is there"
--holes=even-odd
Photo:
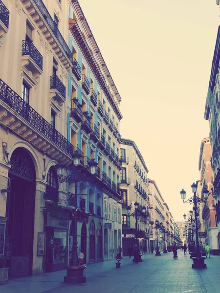
[[[78,197],[78,182],[84,181],[86,177],[82,174],[81,170],[78,168],[80,165],[81,154],[77,151],[72,155],[73,158],[73,172],[64,178],[64,166],[57,164],[57,175],[61,183],[74,182],[75,186],[75,211],[74,211],[74,226],[73,226],[73,249],[71,265],[67,266],[67,276],[64,277],[65,283],[85,283],[86,276],[83,275],[86,266],[79,266],[78,258],[78,247],[77,247],[77,197]],[[91,175],[96,173],[97,163],[94,159],[89,162],[89,170]]]

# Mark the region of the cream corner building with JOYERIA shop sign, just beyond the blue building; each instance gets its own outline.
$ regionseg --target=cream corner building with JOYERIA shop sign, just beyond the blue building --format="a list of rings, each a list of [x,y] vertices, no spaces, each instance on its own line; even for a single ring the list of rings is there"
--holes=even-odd
[[[121,197],[122,197],[122,242],[123,255],[128,255],[128,248],[135,244],[135,217],[128,215],[127,207],[134,210],[146,208],[146,217],[137,218],[137,238],[139,249],[149,252],[149,200],[148,200],[148,168],[136,144],[129,139],[121,139]]]

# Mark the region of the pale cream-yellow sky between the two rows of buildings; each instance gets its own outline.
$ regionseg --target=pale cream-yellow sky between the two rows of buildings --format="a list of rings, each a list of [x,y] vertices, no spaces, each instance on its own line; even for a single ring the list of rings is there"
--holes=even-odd
[[[220,9],[215,0],[79,0],[122,98],[120,133],[138,146],[176,221],[199,180]]]

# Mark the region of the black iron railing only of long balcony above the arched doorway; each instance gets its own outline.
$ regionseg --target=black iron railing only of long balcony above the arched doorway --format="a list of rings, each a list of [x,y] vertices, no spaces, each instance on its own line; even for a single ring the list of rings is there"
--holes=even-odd
[[[9,105],[18,115],[44,134],[48,140],[62,148],[70,156],[73,155],[73,145],[51,126],[38,112],[16,94],[7,84],[0,79],[0,99]]]

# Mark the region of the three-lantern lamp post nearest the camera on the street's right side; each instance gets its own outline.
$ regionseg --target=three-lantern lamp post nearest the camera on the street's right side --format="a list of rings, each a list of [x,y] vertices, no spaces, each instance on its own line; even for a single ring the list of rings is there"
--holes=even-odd
[[[197,219],[197,205],[204,202],[206,203],[207,198],[209,196],[209,192],[206,188],[202,188],[202,194],[203,197],[199,198],[196,193],[197,193],[197,185],[193,183],[191,185],[192,191],[193,191],[193,196],[189,198],[188,200],[184,201],[186,198],[186,191],[182,189],[180,191],[181,198],[183,200],[183,203],[190,203],[194,204],[194,212],[195,212],[195,224],[196,224],[196,245],[197,245],[197,251],[196,251],[196,257],[193,257],[193,268],[206,268],[206,264],[204,263],[204,257],[201,256],[201,252],[199,250],[199,242],[198,242],[198,219]]]

